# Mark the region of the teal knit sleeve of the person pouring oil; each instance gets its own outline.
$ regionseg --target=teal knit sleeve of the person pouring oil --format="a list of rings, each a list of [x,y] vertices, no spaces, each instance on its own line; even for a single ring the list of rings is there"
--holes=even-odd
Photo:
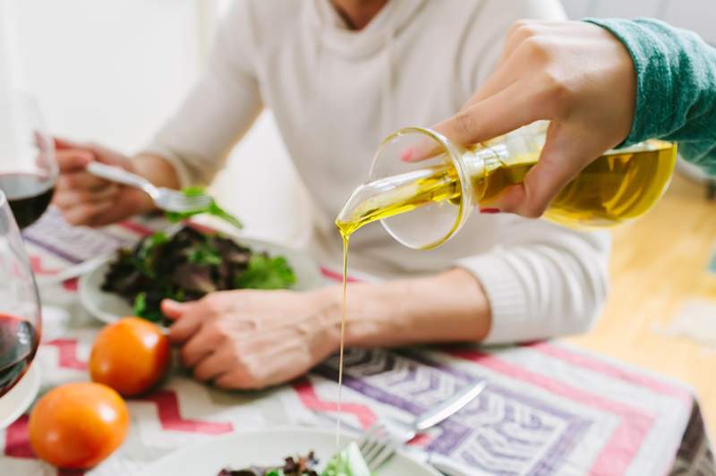
[[[716,48],[663,21],[585,21],[609,30],[634,60],[636,111],[624,145],[676,141],[681,157],[716,175]]]

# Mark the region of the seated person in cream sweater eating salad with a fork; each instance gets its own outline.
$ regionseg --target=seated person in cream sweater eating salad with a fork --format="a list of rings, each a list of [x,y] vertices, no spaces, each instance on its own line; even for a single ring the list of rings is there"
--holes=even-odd
[[[488,76],[520,18],[560,20],[554,0],[236,1],[207,71],[136,157],[64,143],[55,204],[76,225],[153,209],[149,198],[87,174],[91,160],[161,186],[209,183],[264,106],[320,216],[311,249],[341,262],[333,217],[368,176],[383,137],[452,114]],[[260,157],[258,157],[260,158]],[[258,159],[257,158],[257,159]],[[609,237],[544,221],[474,214],[437,251],[413,251],[380,226],[352,238],[351,267],[384,278],[350,285],[348,346],[513,343],[584,332],[608,287]],[[164,302],[169,336],[196,378],[260,388],[337,351],[340,285],[234,291]]]

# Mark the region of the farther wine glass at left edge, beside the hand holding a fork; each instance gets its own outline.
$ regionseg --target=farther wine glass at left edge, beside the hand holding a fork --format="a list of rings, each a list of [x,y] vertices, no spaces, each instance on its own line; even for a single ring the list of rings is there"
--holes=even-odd
[[[0,94],[0,190],[21,229],[45,213],[56,180],[55,142],[37,102],[17,90]]]

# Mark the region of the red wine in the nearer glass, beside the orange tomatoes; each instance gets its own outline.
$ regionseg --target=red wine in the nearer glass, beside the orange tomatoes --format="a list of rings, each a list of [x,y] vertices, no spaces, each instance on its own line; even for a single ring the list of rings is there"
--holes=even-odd
[[[38,344],[38,333],[30,322],[0,314],[0,396],[20,381]]]

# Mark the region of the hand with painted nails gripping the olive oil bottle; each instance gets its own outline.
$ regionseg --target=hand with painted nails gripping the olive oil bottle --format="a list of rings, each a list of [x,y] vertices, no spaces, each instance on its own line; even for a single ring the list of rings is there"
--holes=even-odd
[[[457,115],[433,129],[474,144],[550,120],[539,163],[490,204],[540,217],[585,166],[626,139],[635,98],[634,63],[608,30],[584,21],[518,21],[496,71]]]

